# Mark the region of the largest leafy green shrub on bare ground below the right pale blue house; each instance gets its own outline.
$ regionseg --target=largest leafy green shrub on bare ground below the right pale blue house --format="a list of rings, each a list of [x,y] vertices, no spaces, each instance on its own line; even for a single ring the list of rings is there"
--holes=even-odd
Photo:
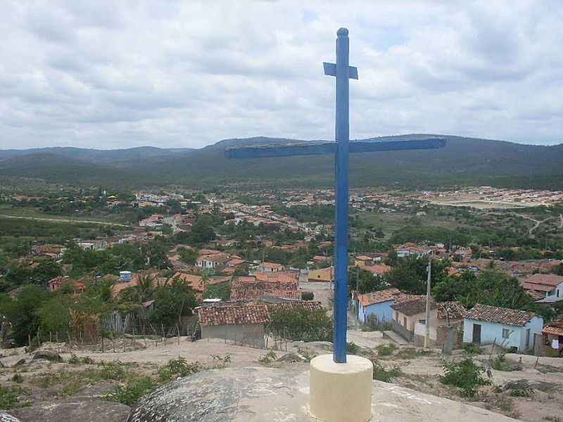
[[[463,397],[474,397],[479,393],[479,387],[491,385],[490,380],[481,376],[485,372],[483,366],[475,364],[470,357],[460,362],[444,362],[443,371],[440,382],[460,388],[458,393]]]

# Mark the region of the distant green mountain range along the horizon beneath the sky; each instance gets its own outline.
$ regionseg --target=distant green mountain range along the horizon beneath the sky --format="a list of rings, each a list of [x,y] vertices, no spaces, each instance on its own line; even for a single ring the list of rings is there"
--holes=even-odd
[[[563,189],[563,144],[534,146],[434,134],[384,136],[373,141],[441,137],[439,150],[391,151],[350,155],[352,186],[495,186]],[[363,139],[362,141],[366,141]],[[201,149],[139,147],[119,150],[33,148],[0,150],[0,176],[35,177],[75,185],[141,187],[179,184],[257,186],[331,186],[334,158],[228,160],[229,146],[303,142],[255,137],[225,139]]]

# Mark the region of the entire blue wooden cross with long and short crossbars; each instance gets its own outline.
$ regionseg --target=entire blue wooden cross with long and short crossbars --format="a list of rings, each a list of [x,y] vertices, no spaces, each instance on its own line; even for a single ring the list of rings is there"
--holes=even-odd
[[[336,77],[336,142],[293,143],[274,146],[227,148],[227,158],[286,157],[291,155],[334,154],[336,216],[334,221],[334,362],[346,363],[348,313],[348,155],[373,151],[441,148],[443,139],[410,141],[355,141],[350,143],[348,79],[358,79],[358,69],[348,62],[348,30],[336,33],[336,64],[323,63],[324,75]]]

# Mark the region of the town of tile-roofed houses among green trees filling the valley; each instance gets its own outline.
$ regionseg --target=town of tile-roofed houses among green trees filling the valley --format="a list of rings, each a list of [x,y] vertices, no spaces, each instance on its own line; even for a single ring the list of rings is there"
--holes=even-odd
[[[468,195],[491,207],[441,202]],[[487,186],[353,189],[348,348],[400,383],[412,383],[409,366],[394,363],[403,355],[439,366],[441,356],[488,354],[490,370],[511,375],[530,357],[563,370],[548,360],[563,354],[560,198]],[[4,191],[0,215],[5,367],[37,350],[112,362],[172,348],[164,356],[175,362],[186,347],[214,356],[202,365],[279,365],[277,355],[310,359],[331,341],[329,189]],[[436,387],[420,376],[419,390]],[[536,420],[507,388],[481,405]],[[545,406],[545,416],[553,411]]]

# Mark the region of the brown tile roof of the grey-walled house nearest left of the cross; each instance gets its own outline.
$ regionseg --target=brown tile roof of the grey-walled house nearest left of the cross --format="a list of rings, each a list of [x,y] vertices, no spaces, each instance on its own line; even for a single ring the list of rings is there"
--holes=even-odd
[[[267,324],[270,321],[266,305],[203,306],[198,308],[201,326],[234,324]]]

